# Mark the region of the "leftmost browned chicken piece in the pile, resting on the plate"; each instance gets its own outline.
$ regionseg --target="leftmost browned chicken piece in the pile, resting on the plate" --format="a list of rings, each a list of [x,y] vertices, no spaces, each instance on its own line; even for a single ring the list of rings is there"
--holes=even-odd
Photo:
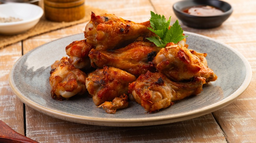
[[[69,99],[76,94],[86,93],[85,79],[87,75],[69,64],[68,57],[55,61],[51,68],[49,81],[53,99]]]

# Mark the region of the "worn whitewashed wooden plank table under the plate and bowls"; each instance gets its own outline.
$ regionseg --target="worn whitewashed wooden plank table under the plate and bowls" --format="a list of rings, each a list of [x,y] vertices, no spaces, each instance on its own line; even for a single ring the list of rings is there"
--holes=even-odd
[[[151,10],[165,17],[172,16],[173,23],[177,19],[172,9],[176,1],[86,0],[86,4],[135,22],[147,21]],[[256,1],[225,1],[233,6],[234,11],[222,26],[199,30],[182,25],[185,31],[230,45],[243,54],[251,65],[252,81],[249,87],[223,109],[199,118],[164,125],[104,127],[56,119],[23,104],[8,82],[12,65],[39,45],[82,33],[86,25],[83,23],[22,40],[0,50],[0,120],[38,142],[256,142]]]

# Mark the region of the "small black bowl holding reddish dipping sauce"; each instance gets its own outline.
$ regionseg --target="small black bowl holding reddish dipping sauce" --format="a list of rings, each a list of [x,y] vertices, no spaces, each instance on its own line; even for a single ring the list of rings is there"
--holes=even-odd
[[[193,6],[212,6],[224,11],[216,16],[193,16],[183,12]],[[233,12],[230,4],[220,0],[182,0],[173,5],[175,15],[181,22],[189,27],[206,29],[220,26]]]

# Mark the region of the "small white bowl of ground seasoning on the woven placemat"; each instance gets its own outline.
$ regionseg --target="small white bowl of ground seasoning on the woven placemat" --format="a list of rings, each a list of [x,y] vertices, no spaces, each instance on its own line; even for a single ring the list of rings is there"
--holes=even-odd
[[[41,7],[26,3],[7,3],[0,5],[1,18],[19,18],[21,21],[0,22],[0,34],[20,34],[35,26],[42,17],[44,11]]]

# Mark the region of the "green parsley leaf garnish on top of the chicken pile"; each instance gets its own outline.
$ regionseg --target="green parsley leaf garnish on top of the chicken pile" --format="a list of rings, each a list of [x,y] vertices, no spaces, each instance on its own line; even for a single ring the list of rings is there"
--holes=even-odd
[[[183,36],[184,30],[182,30],[178,20],[176,20],[169,29],[171,17],[166,21],[163,15],[161,16],[151,11],[151,18],[149,21],[152,28],[148,27],[148,29],[154,32],[157,36],[149,37],[147,40],[154,42],[158,47],[164,48],[169,42],[177,44],[179,41],[187,37]]]

